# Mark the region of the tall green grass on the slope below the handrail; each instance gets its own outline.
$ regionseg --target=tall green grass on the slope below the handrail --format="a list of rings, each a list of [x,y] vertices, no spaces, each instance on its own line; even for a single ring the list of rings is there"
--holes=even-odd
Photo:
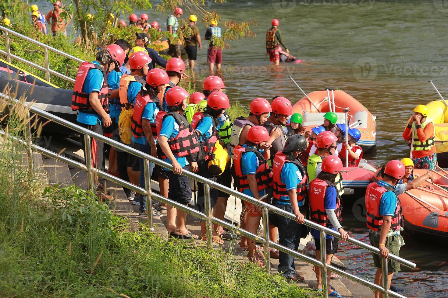
[[[4,102],[2,129],[23,138],[23,99]],[[94,193],[30,179],[23,148],[0,143],[0,297],[310,296],[222,250],[131,232]]]

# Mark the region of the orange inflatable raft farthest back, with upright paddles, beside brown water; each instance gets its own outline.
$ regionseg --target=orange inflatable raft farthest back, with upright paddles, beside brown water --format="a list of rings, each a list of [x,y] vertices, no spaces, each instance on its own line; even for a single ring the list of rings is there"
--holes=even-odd
[[[345,124],[345,113],[343,110],[349,108],[349,126],[358,128],[361,132],[361,139],[358,141],[358,145],[362,147],[364,153],[374,150],[376,147],[375,116],[348,93],[342,90],[334,90],[333,92],[330,91],[330,98],[333,99],[334,94],[335,110],[333,112],[338,116],[336,123]],[[303,116],[302,125],[311,129],[314,126],[322,125],[324,113],[330,111],[330,100],[326,90],[311,92],[308,94],[308,97],[309,99],[303,97],[293,106],[293,113],[301,113]]]

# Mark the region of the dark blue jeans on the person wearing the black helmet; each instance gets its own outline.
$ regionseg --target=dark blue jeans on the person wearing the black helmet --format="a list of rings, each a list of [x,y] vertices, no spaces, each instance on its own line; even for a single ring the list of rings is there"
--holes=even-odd
[[[291,204],[280,205],[276,199],[274,199],[274,205],[280,209],[287,212],[294,213]],[[302,207],[300,207],[302,212]],[[302,225],[298,224],[296,221],[279,216],[278,218],[278,228],[279,228],[279,244],[294,251],[297,251],[300,243],[300,236],[302,235]],[[279,266],[278,270],[284,277],[292,277],[296,275],[296,269],[294,268],[294,257],[284,253],[279,253]]]

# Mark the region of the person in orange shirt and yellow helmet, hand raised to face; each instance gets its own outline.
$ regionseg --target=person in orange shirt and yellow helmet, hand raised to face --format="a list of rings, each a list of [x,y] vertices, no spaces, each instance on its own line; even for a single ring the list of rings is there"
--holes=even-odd
[[[414,146],[412,148],[412,161],[415,168],[431,170],[437,164],[437,152],[435,151],[435,126],[431,121],[426,121],[428,108],[426,105],[418,105],[414,109],[414,116],[409,120],[403,132],[403,139],[411,141],[411,134],[416,126],[414,134]]]

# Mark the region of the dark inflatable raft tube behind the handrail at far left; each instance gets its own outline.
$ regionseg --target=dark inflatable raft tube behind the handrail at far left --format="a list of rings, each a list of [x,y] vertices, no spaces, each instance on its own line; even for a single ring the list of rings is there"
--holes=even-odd
[[[0,90],[5,87],[12,87],[11,90],[17,90],[17,97],[26,97],[26,102],[33,102],[36,108],[52,113],[69,122],[76,122],[77,112],[71,109],[73,90],[33,86],[32,84],[10,80],[9,77],[0,76]],[[47,122],[47,119],[38,119],[38,121]],[[64,126],[60,126],[54,122],[47,122],[43,126],[43,132],[57,135],[73,135],[76,134]]]

